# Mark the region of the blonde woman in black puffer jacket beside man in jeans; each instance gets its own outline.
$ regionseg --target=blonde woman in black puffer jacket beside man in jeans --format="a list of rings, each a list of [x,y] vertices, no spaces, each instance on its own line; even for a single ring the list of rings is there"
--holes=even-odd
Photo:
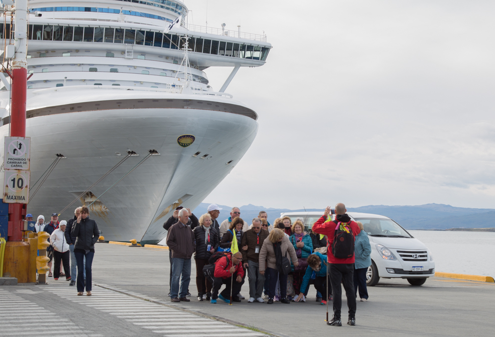
[[[211,227],[211,215],[205,213],[199,217],[199,226],[193,230],[196,240],[196,287],[198,288],[198,301],[203,297],[209,301],[211,298],[211,279],[203,274],[203,267],[208,264],[208,259],[219,245],[218,232]]]

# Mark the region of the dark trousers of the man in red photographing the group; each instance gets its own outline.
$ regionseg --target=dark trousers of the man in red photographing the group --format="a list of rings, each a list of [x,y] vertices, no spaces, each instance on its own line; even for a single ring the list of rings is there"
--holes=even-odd
[[[330,283],[334,304],[334,316],[341,318],[342,286],[344,285],[349,307],[349,317],[356,317],[356,293],[354,292],[354,264],[330,263]]]

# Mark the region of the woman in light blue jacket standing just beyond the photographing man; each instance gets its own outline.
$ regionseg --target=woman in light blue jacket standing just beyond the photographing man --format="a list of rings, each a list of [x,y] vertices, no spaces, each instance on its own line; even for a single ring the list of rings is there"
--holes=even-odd
[[[354,256],[356,258],[354,262],[354,289],[357,295],[357,288],[359,288],[359,297],[361,302],[368,300],[368,289],[366,289],[366,272],[368,267],[371,266],[371,245],[368,239],[368,233],[363,231],[363,224],[357,222],[357,226],[361,232],[356,235],[356,241],[354,242]]]

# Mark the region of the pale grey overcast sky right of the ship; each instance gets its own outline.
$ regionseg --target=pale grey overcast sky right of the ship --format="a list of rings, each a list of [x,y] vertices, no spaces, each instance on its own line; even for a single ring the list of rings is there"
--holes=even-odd
[[[259,130],[204,202],[495,208],[494,1],[185,3],[273,46],[226,91]],[[230,71],[206,69],[215,90]]]

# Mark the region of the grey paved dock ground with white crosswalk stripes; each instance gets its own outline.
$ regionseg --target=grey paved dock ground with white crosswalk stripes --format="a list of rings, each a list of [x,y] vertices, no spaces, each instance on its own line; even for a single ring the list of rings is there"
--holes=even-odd
[[[267,336],[254,328],[281,337],[492,336],[495,329],[493,284],[433,278],[412,287],[406,280],[381,280],[368,288],[369,302],[357,302],[355,327],[346,322],[330,327],[312,286],[305,303],[198,302],[192,262],[191,302],[173,304],[166,296],[168,250],[105,243],[95,248],[92,297],[77,297],[75,287],[52,278],[47,278],[47,286],[0,286],[2,336],[48,336],[55,331],[94,337]],[[248,295],[247,280],[241,293]]]

